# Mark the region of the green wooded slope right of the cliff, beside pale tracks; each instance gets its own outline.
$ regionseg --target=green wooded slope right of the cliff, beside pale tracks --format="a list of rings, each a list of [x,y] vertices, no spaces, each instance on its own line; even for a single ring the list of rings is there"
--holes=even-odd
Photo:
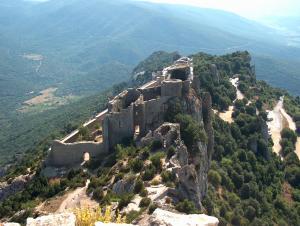
[[[247,97],[236,101],[234,123],[215,117],[215,152],[208,174],[209,190],[203,201],[206,213],[218,217],[220,225],[299,225],[300,165],[292,151],[296,134],[288,129],[282,131],[285,159],[281,161],[272,153],[272,142],[263,133],[265,109],[272,108],[286,93],[255,81],[246,52],[197,57],[200,58],[197,62],[208,60],[221,70],[220,86],[225,86],[223,80],[239,74],[239,88]],[[202,76],[205,69],[199,71]],[[234,98],[228,91],[231,89],[220,91],[216,82],[206,82],[207,77],[204,73],[203,89],[211,92],[216,109],[226,109],[226,99]],[[247,105],[248,100],[255,104]],[[287,186],[291,190],[285,189]]]

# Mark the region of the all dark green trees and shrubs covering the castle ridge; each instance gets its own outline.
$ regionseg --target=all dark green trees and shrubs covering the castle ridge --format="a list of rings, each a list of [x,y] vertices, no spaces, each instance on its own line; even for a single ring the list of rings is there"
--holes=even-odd
[[[149,80],[150,72],[161,69],[177,57],[177,53],[153,54],[134,70],[133,84],[129,82],[104,93],[102,101],[96,98],[98,108],[104,106],[104,99],[108,95],[127,86]],[[175,208],[185,213],[206,213],[216,216],[220,220],[220,225],[299,225],[300,162],[293,151],[297,134],[289,129],[282,131],[283,159],[281,159],[272,152],[273,142],[265,130],[266,110],[272,108],[281,96],[286,97],[285,107],[297,121],[300,112],[299,98],[256,80],[248,52],[236,52],[224,56],[199,53],[192,57],[195,75],[199,76],[201,81],[199,95],[202,92],[209,92],[215,110],[227,110],[236,98],[235,88],[229,82],[233,76],[239,77],[239,89],[246,98],[234,102],[233,123],[227,123],[217,115],[214,116],[215,147],[208,173],[208,193],[202,202],[203,207],[197,209],[191,200],[179,200],[178,203],[174,203]],[[218,68],[217,79],[211,76],[211,64],[215,64]],[[139,72],[142,71],[145,73],[140,74]],[[145,77],[142,77],[143,75]],[[88,108],[88,105],[85,106]],[[94,108],[95,106],[92,109]],[[169,115],[168,120],[180,123],[183,139],[189,151],[192,151],[188,144],[197,139],[203,142],[206,140],[203,128],[196,126],[188,115],[180,114],[180,109],[177,111]],[[113,169],[118,165],[116,163],[124,159],[129,159],[129,167],[122,169],[115,176],[122,178],[131,171],[142,172],[134,193],[144,197],[141,202],[142,210],[153,212],[156,206],[152,205],[147,198],[144,183],[159,173],[166,186],[176,187],[174,175],[161,168],[161,159],[170,158],[174,150],[170,148],[166,153],[157,151],[160,147],[161,144],[153,143],[149,147],[139,149],[130,140],[124,141],[116,147],[111,156],[106,158],[105,162],[102,162],[101,167],[99,167],[99,160],[91,160],[86,166],[88,171],[71,170],[65,177],[60,178],[59,183],[53,184],[40,171],[40,161],[47,153],[47,144],[40,144],[38,150],[29,152],[27,158],[17,164],[18,167],[11,167],[6,179],[25,172],[28,167],[37,170],[36,176],[24,191],[0,204],[0,216],[12,216],[16,211],[26,209],[22,216],[13,218],[22,221],[24,217],[34,214],[33,207],[39,202],[64,192],[66,188],[83,186],[86,178],[91,179],[88,192],[93,192],[95,200],[102,205],[118,201],[118,208],[121,209],[130,202],[134,194],[117,196],[109,192],[104,197],[102,186],[110,180]],[[37,156],[37,151],[41,153],[39,159],[33,158]],[[148,160],[151,164],[145,167],[142,160]],[[128,222],[140,214],[131,212],[127,216]]]

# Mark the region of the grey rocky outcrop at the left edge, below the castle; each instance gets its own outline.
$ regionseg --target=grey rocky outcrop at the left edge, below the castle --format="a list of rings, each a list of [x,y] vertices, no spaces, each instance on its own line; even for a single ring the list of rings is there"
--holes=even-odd
[[[0,183],[0,201],[4,200],[6,197],[13,195],[21,191],[26,183],[31,179],[30,175],[21,175],[16,177],[10,183],[3,182]]]

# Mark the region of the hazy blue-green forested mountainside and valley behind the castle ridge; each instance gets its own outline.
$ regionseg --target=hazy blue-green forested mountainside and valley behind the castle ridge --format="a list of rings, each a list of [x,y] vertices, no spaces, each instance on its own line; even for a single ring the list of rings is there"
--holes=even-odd
[[[78,106],[97,93],[127,81],[153,51],[248,49],[259,79],[298,95],[300,51],[286,41],[271,28],[220,10],[129,0],[3,0],[0,162],[33,148],[57,121],[73,118],[64,112],[80,112]]]

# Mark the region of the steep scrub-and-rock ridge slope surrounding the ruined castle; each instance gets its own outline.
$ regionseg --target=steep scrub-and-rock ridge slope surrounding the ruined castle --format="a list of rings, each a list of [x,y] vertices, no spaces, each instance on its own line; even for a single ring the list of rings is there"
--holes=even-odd
[[[155,72],[167,64],[166,59],[176,57],[176,53],[153,54],[134,75],[146,68]],[[300,162],[291,149],[297,135],[290,130],[282,133],[281,159],[272,152],[266,123],[266,110],[279,97],[286,96],[285,107],[293,117],[300,112],[299,98],[256,80],[248,52],[194,54],[193,67],[191,92],[171,99],[164,108],[165,117],[160,117],[164,119],[161,126],[141,140],[126,140],[111,155],[91,159],[76,171],[64,169],[56,180],[44,177],[43,158],[37,159],[36,152],[29,155],[35,156],[34,162],[12,167],[6,179],[28,172],[28,167],[34,176],[23,191],[0,203],[0,216],[26,208],[27,212],[13,218],[22,221],[33,215],[29,210],[39,202],[84,187],[90,179],[87,193],[102,207],[115,204],[128,223],[149,222],[158,208],[205,213],[217,217],[221,225],[299,225]],[[243,99],[236,100],[230,79],[239,81]],[[210,117],[211,107],[204,106],[211,104],[217,111],[234,104],[233,121],[227,123],[217,114]],[[47,146],[41,148],[46,152]]]

